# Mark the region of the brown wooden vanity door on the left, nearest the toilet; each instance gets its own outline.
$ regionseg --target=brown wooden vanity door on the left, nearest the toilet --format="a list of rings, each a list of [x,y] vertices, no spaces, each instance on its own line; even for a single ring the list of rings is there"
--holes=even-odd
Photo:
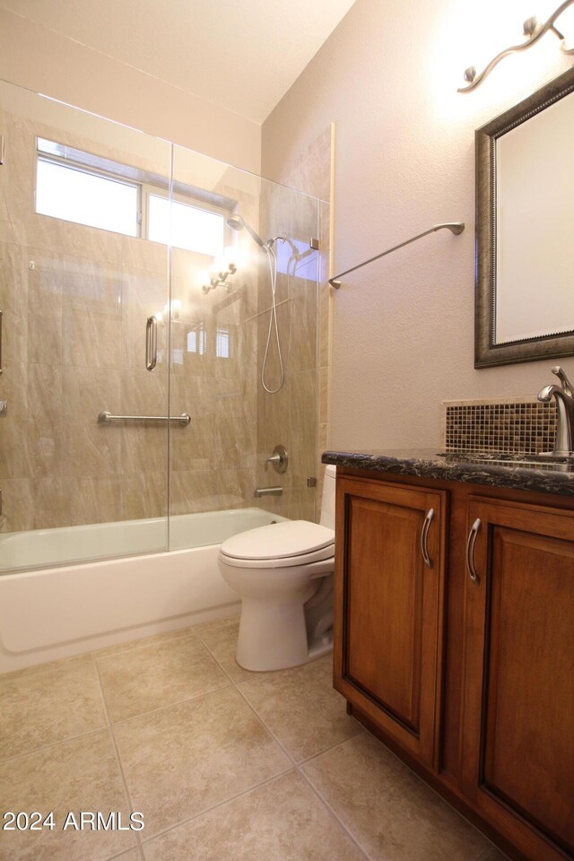
[[[337,479],[335,688],[431,767],[438,758],[445,497]]]

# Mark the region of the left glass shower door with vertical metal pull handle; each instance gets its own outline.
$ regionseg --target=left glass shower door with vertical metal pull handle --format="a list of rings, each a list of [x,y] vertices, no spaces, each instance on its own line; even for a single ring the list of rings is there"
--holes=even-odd
[[[0,567],[165,549],[170,143],[8,83],[0,109]]]

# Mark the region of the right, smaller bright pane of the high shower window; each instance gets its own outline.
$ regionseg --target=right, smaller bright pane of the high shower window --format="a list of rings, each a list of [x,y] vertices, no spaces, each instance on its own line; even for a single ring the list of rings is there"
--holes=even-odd
[[[219,257],[223,251],[223,216],[177,201],[170,203],[167,197],[150,195],[148,238]]]

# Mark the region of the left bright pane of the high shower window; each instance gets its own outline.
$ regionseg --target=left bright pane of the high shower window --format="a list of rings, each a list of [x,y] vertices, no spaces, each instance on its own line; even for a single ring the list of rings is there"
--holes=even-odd
[[[137,236],[137,187],[39,159],[36,212]]]

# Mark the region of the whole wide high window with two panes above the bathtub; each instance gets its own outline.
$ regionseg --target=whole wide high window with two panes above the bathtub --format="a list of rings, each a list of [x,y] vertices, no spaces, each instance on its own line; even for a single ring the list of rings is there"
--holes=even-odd
[[[169,187],[165,177],[38,139],[37,213],[222,257],[229,210],[202,206],[191,188],[188,198],[170,199]]]

